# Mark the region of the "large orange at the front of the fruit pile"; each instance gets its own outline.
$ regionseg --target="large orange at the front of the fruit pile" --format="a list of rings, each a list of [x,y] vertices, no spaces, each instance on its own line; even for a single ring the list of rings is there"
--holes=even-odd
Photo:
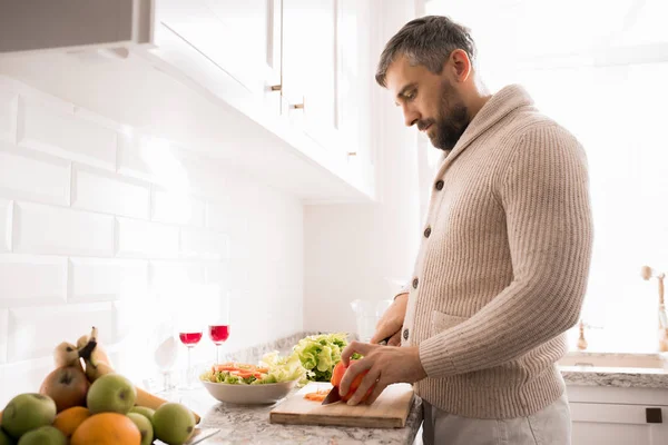
[[[88,417],[72,435],[70,445],[140,445],[141,433],[125,414],[100,413]]]

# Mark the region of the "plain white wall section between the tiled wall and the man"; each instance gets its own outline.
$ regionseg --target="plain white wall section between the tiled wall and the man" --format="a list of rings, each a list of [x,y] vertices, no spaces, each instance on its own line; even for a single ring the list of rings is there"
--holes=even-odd
[[[406,129],[390,93],[375,85],[375,63],[385,42],[415,17],[415,2],[374,1],[372,59],[366,77],[376,152],[374,205],[307,206],[304,209],[306,329],[355,332],[350,303],[392,298],[393,279],[411,275],[420,239],[415,129]],[[364,116],[362,112],[361,116]]]

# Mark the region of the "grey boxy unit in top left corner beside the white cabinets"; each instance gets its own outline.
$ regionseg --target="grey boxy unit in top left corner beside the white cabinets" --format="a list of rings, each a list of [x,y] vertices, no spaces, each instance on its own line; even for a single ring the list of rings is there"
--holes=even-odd
[[[151,39],[151,0],[21,0],[0,3],[0,53],[126,49]]]

